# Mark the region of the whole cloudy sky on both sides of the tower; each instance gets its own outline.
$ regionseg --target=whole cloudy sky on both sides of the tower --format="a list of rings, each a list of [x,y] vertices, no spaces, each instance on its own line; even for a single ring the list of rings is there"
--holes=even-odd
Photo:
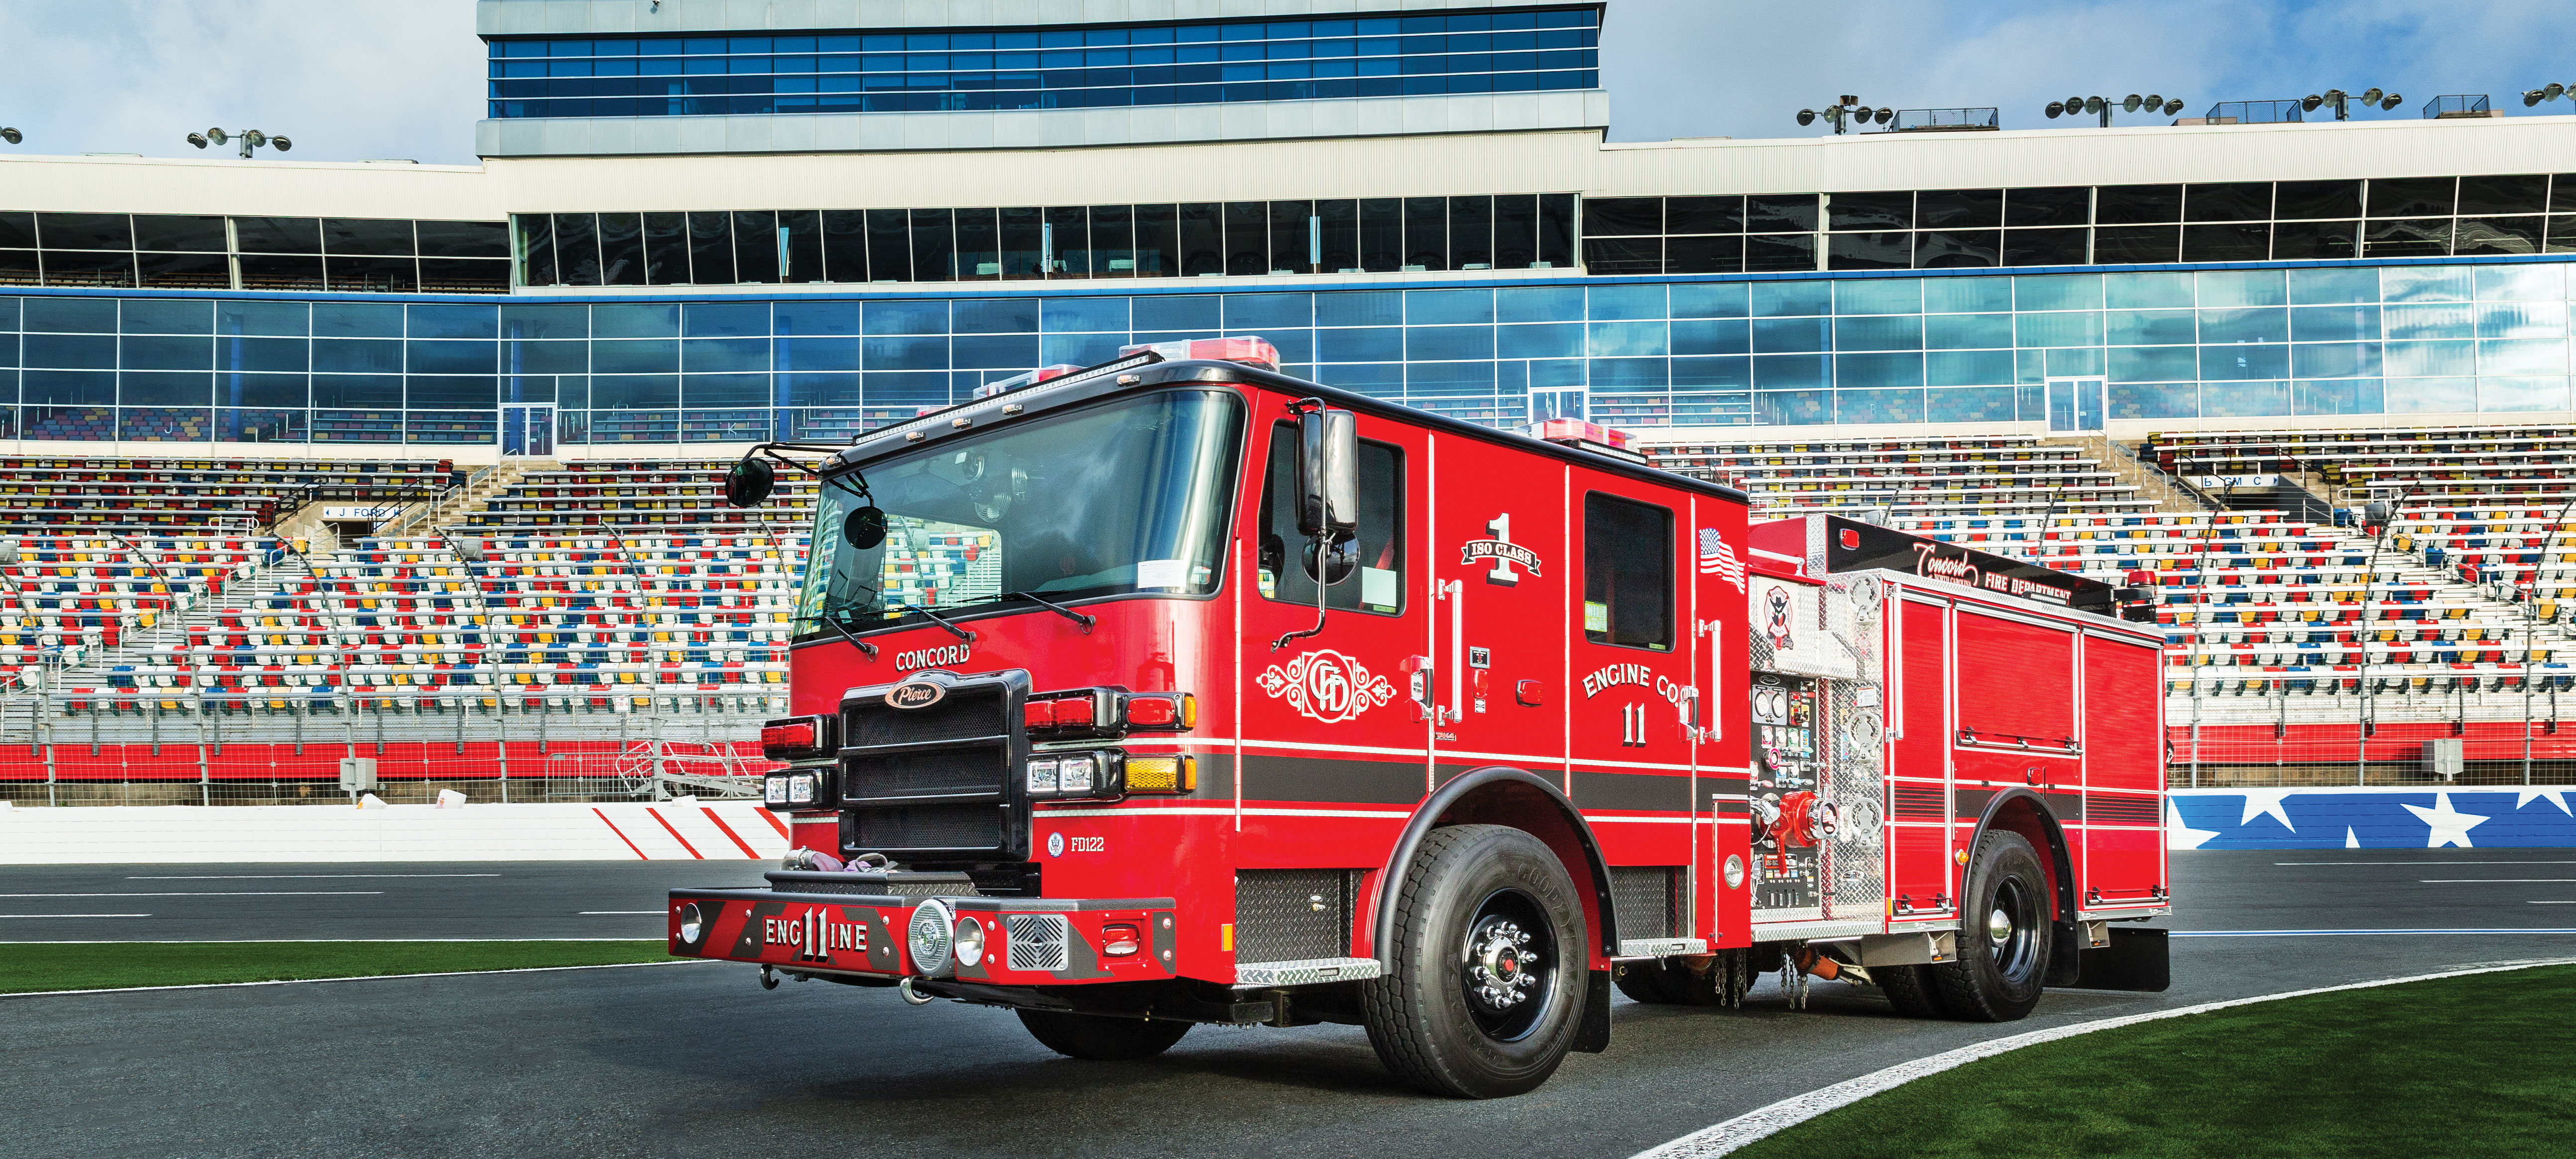
[[[2576,85],[2576,5],[2499,0],[1613,0],[1602,31],[1610,139],[1803,137],[1798,108],[1996,106],[2045,129],[2048,100],[2215,100],[2344,88],[2406,95]],[[474,162],[484,52],[471,0],[0,0],[0,124],[33,155],[196,155],[204,129],[294,139],[291,160]],[[2553,100],[2540,113],[2576,113]],[[2115,124],[2161,124],[2120,118]]]

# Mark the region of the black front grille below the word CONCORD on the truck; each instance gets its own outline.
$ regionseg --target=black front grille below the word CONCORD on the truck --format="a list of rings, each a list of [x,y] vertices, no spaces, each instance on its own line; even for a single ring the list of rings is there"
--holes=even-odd
[[[853,688],[840,706],[840,804],[850,850],[899,863],[1028,858],[1028,801],[1018,786],[1028,737],[1028,672],[933,672],[930,708],[894,708],[886,688]]]

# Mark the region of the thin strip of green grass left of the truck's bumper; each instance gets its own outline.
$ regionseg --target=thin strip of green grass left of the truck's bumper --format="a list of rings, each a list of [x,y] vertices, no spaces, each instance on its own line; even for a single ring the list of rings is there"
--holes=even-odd
[[[616,943],[0,943],[0,994],[670,961]]]

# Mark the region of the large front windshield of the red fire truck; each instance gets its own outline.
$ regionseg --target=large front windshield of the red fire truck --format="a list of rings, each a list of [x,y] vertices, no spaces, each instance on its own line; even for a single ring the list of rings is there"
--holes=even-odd
[[[842,538],[868,500],[837,476],[814,505],[796,639],[829,636],[824,618],[866,631],[1010,592],[1216,592],[1242,430],[1239,397],[1167,391],[943,440],[866,469],[886,513],[871,549]]]

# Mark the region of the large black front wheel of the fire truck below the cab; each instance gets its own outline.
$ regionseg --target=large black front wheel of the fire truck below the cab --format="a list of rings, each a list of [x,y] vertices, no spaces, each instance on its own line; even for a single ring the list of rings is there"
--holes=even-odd
[[[1584,1012],[1587,927],[1538,837],[1453,824],[1422,837],[1396,894],[1394,963],[1360,986],[1368,1043],[1432,1095],[1492,1100],[1548,1082]]]

